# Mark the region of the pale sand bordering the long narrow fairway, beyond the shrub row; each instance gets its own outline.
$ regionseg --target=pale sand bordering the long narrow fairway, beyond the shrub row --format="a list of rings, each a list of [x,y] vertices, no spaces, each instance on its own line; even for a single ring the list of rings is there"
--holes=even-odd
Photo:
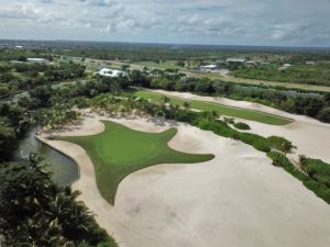
[[[167,96],[179,97],[186,100],[201,100],[221,103],[229,106],[237,106],[250,110],[257,110],[266,113],[276,114],[284,117],[293,119],[294,122],[287,125],[270,125],[260,122],[240,120],[248,123],[252,127],[252,133],[262,136],[283,136],[294,143],[298,148],[293,154],[293,158],[297,159],[298,155],[307,155],[310,158],[322,159],[330,162],[330,124],[321,123],[315,119],[295,115],[258,103],[246,101],[234,101],[226,98],[200,97],[188,92],[168,92],[164,90],[153,90],[155,92]]]

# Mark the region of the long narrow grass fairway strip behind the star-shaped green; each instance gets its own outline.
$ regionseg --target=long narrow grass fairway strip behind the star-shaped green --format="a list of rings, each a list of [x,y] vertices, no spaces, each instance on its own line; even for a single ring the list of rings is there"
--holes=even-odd
[[[151,99],[154,101],[162,101],[164,98],[163,94],[153,92],[153,91],[145,91],[145,90],[139,90],[133,93],[136,97]],[[176,97],[169,97],[173,104],[184,105],[185,100]],[[253,110],[246,110],[246,109],[239,109],[239,108],[232,108],[222,104],[217,104],[212,102],[202,102],[198,100],[187,100],[189,102],[190,108],[201,110],[201,111],[216,111],[219,114],[228,115],[228,116],[235,116],[240,119],[246,119],[252,120],[261,123],[272,124],[272,125],[285,125],[289,124],[293,121],[290,119],[263,113],[258,111]]]

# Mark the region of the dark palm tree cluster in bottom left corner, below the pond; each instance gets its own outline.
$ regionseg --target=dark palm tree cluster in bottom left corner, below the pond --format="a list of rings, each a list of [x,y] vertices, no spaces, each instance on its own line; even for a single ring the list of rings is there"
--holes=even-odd
[[[117,246],[77,201],[79,193],[52,181],[38,156],[1,164],[0,170],[3,246]]]

